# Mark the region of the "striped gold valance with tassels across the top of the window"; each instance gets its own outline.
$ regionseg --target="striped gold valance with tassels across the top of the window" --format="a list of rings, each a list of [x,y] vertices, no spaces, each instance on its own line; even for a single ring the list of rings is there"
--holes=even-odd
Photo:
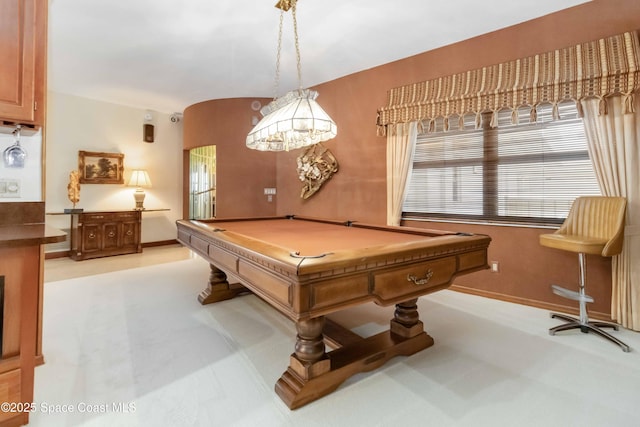
[[[391,89],[389,103],[378,110],[378,135],[385,136],[387,126],[397,123],[437,117],[448,122],[466,114],[475,114],[479,122],[483,112],[497,115],[526,106],[535,120],[541,103],[556,107],[561,101],[616,94],[626,97],[627,111],[632,111],[639,87],[640,43],[637,32],[629,32]],[[606,113],[606,103],[601,105]]]

